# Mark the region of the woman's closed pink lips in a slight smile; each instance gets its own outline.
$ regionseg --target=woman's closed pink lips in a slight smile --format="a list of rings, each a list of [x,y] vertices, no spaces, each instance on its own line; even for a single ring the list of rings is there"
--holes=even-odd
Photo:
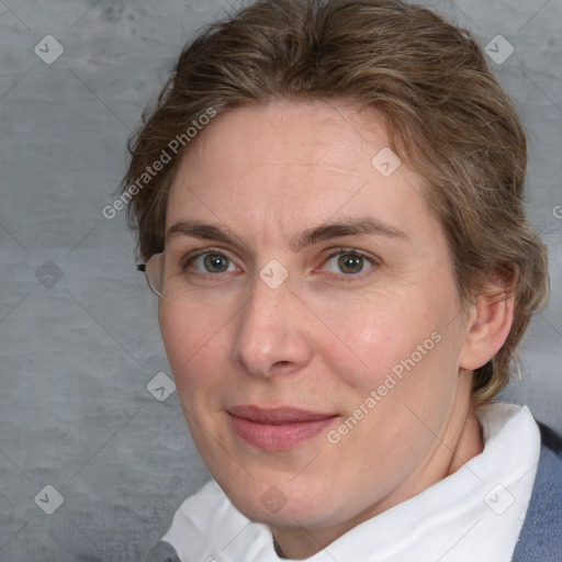
[[[262,408],[240,405],[228,408],[234,430],[250,445],[270,451],[297,447],[316,437],[339,417],[294,407]]]

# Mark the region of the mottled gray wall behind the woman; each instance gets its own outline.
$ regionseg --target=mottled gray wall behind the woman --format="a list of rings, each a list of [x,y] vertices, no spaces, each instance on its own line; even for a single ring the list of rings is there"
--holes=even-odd
[[[0,1],[1,562],[142,560],[209,477],[177,394],[159,402],[147,390],[169,374],[156,303],[125,213],[101,210],[140,111],[186,41],[228,4]],[[515,47],[492,66],[529,133],[529,214],[550,246],[552,296],[504,398],[562,432],[562,3],[426,4],[482,46],[501,34]],[[34,53],[47,34],[65,49],[52,65]],[[34,501],[46,485],[64,497],[53,515],[40,508],[53,493]]]

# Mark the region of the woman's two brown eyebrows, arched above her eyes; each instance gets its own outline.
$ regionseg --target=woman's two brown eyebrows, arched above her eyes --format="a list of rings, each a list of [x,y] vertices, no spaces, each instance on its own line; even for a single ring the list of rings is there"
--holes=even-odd
[[[306,228],[300,232],[291,240],[291,248],[297,252],[306,246],[312,246],[318,241],[329,240],[342,236],[376,235],[395,238],[398,240],[408,240],[409,237],[403,231],[386,224],[373,216],[361,216],[348,218],[333,223],[322,224],[313,228]],[[191,236],[204,240],[214,240],[231,246],[238,246],[249,254],[248,245],[229,228],[206,224],[201,221],[180,221],[170,226],[166,233],[166,239],[178,235]]]

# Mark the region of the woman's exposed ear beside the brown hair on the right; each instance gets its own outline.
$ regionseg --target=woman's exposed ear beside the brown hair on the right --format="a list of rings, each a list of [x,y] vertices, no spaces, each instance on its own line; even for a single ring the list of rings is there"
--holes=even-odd
[[[486,364],[502,349],[514,319],[517,272],[509,280],[488,282],[471,306],[459,367],[473,371]]]

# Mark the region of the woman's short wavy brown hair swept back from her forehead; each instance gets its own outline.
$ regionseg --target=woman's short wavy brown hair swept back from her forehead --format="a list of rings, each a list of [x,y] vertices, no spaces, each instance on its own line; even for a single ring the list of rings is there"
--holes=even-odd
[[[130,139],[122,187],[139,187],[128,211],[140,255],[164,249],[167,196],[189,127],[210,111],[306,100],[382,111],[392,149],[427,180],[424,195],[448,237],[463,304],[493,278],[513,286],[507,340],[474,371],[474,403],[488,402],[547,303],[548,254],[525,216],[527,140],[517,110],[471,33],[432,11],[400,0],[260,0],[206,26]],[[173,139],[181,139],[177,154]],[[170,161],[140,186],[164,153]]]

